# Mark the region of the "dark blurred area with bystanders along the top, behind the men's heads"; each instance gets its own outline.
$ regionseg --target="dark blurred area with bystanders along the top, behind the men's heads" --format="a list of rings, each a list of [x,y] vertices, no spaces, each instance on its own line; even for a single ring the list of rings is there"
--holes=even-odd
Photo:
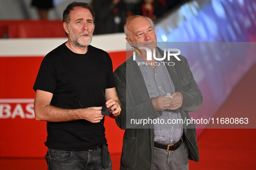
[[[73,0],[0,0],[0,19],[62,20],[62,13]],[[77,0],[90,3],[95,11],[94,34],[123,32],[132,15],[143,15],[154,22],[188,0]]]

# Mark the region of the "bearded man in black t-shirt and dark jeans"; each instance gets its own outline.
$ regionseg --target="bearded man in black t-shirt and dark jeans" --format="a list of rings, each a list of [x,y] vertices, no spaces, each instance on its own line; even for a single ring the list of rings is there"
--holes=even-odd
[[[36,120],[47,121],[48,169],[112,169],[104,115],[121,111],[112,61],[90,45],[94,12],[87,3],[67,6],[63,28],[68,41],[44,57],[33,87]]]

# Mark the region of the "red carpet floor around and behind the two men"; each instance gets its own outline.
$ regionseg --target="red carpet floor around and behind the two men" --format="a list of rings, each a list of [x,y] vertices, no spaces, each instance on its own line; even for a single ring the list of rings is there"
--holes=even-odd
[[[255,114],[256,65],[233,89],[218,115]],[[230,117],[230,116],[229,116]],[[235,117],[235,116],[234,116]],[[249,120],[250,121],[250,120]],[[200,162],[190,161],[190,170],[255,169],[256,129],[206,129],[198,139]],[[120,154],[110,154],[113,170],[120,166]],[[1,170],[46,170],[44,158],[0,158]]]

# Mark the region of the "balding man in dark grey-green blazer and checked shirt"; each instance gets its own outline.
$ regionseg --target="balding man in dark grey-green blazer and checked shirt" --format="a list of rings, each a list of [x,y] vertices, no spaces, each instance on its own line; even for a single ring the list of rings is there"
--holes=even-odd
[[[199,161],[199,152],[194,124],[182,121],[203,100],[188,61],[178,55],[180,60],[159,62],[165,54],[156,47],[154,24],[146,17],[132,16],[124,30],[137,52],[114,72],[123,106],[116,122],[125,129],[120,169],[186,170],[188,159]],[[152,60],[141,47],[151,50]]]

